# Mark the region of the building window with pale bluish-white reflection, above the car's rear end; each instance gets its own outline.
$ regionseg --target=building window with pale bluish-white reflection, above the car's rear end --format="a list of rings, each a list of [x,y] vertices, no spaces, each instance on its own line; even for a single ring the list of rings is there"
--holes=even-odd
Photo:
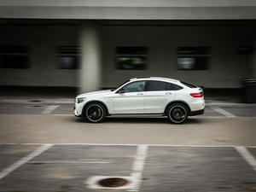
[[[209,47],[179,47],[177,49],[177,67],[179,70],[209,69]]]

